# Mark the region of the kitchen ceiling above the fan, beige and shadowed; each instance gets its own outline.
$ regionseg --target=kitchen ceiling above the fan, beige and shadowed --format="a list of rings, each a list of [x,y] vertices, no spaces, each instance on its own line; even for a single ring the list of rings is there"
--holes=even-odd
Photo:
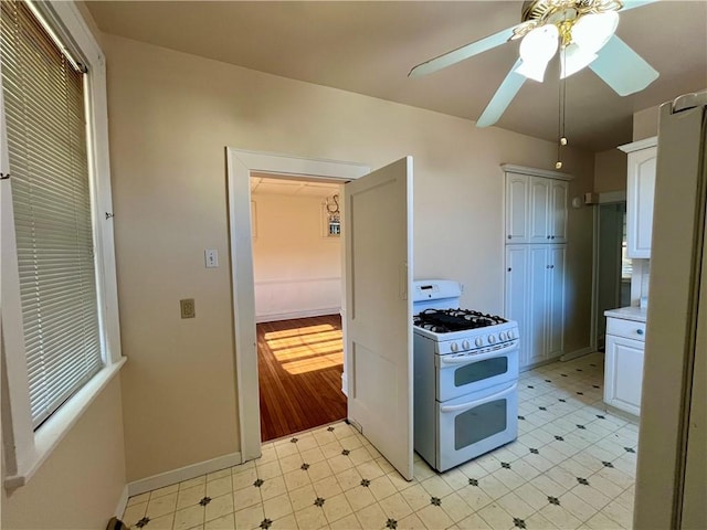
[[[91,1],[113,33],[249,68],[477,119],[514,64],[510,42],[444,71],[412,66],[520,22],[521,1]],[[589,68],[567,82],[567,136],[601,151],[632,139],[632,115],[707,87],[707,1],[622,13],[616,34],[661,76],[618,96]],[[552,67],[552,63],[550,64]],[[557,138],[558,81],[527,82],[497,126]]]

